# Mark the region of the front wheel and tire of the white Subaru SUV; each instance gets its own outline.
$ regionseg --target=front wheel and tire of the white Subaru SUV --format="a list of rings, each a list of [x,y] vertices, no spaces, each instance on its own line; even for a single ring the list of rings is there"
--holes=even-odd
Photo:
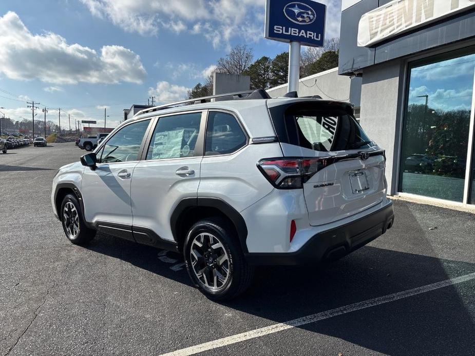
[[[86,226],[81,206],[73,194],[67,194],[64,197],[58,214],[66,237],[74,245],[85,245],[96,236],[96,230]]]

